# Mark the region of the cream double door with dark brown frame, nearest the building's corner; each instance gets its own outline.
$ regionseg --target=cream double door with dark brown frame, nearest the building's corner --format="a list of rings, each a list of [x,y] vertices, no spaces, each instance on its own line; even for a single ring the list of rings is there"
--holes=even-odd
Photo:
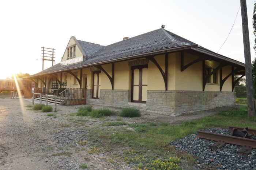
[[[132,102],[147,102],[147,65],[132,67]]]

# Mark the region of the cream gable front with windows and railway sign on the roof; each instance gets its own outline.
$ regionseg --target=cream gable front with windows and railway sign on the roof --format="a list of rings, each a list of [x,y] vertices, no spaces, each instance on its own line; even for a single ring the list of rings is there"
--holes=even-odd
[[[82,47],[76,40],[76,37],[72,36],[69,39],[67,48],[61,58],[61,65],[74,64],[78,62],[83,62],[86,54],[84,53]]]

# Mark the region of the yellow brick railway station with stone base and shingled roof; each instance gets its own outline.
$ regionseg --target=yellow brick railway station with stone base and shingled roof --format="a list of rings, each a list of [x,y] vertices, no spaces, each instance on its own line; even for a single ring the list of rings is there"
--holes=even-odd
[[[108,46],[72,36],[60,63],[26,78],[83,104],[178,115],[234,105],[234,75],[244,63],[160,28]]]

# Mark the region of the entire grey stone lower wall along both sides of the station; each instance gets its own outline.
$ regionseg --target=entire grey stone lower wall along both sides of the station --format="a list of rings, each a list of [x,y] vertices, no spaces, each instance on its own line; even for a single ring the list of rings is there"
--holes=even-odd
[[[235,104],[234,92],[220,91],[148,90],[146,104],[131,103],[131,90],[101,89],[100,98],[92,99],[92,90],[89,89],[86,96],[87,104],[133,107],[174,116]]]

